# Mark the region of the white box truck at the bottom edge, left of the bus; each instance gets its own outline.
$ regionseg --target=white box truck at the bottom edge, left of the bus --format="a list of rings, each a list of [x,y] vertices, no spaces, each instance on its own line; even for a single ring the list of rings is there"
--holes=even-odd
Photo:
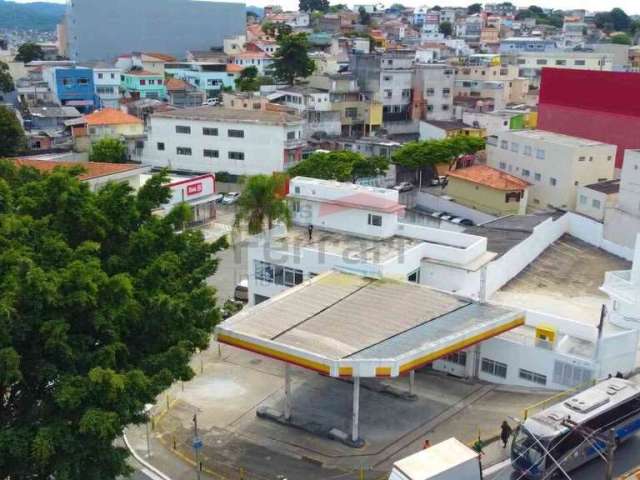
[[[480,480],[478,453],[455,438],[393,464],[389,480]]]

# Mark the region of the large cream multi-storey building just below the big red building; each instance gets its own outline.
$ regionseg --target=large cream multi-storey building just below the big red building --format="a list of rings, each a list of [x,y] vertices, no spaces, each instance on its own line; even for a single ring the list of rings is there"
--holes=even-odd
[[[575,209],[579,186],[613,179],[615,156],[615,145],[543,130],[487,138],[487,165],[529,182],[532,209]]]

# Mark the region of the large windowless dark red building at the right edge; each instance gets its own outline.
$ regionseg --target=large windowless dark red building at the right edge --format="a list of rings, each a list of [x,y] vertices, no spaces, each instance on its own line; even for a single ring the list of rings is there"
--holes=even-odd
[[[617,145],[620,169],[640,148],[640,73],[544,68],[538,128]]]

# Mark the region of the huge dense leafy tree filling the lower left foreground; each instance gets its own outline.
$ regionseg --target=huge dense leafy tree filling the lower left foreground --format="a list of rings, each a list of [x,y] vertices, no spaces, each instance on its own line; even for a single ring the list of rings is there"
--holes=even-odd
[[[68,170],[0,162],[0,478],[126,475],[115,440],[193,377],[219,320],[206,279],[226,244],[177,233],[184,204],[153,215],[167,181],[92,192]]]

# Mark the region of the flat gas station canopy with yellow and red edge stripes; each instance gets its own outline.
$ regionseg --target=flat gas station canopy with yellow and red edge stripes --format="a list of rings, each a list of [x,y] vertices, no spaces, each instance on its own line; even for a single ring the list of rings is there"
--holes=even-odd
[[[523,324],[518,310],[331,271],[241,311],[216,334],[332,377],[396,377]]]

